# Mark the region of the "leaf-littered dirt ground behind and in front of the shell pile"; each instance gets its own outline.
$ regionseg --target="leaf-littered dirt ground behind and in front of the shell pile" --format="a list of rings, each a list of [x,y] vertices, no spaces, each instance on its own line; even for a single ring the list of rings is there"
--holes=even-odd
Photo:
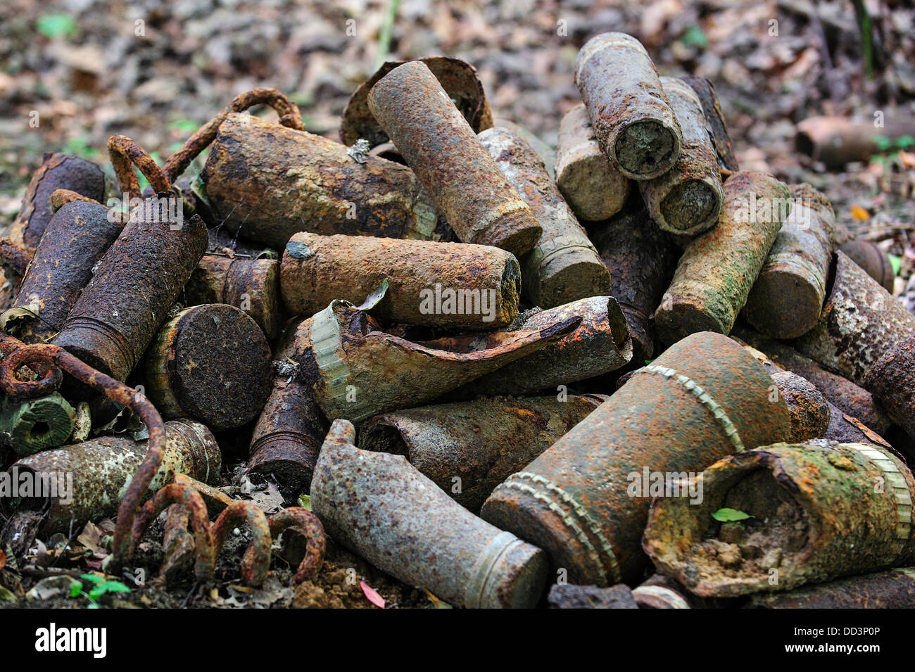
[[[253,87],[285,91],[308,131],[337,139],[350,93],[385,59],[466,59],[479,69],[497,119],[521,123],[555,144],[560,119],[580,101],[573,82],[578,49],[588,37],[616,30],[638,37],[662,75],[712,80],[741,168],[823,190],[840,222],[899,258],[894,293],[912,309],[915,149],[875,155],[839,173],[793,144],[796,123],[813,115],[915,116],[915,13],[901,2],[866,4],[877,36],[871,79],[853,5],[839,0],[401,0],[388,49],[382,38],[388,0],[5,0],[0,230],[15,218],[45,152],[82,155],[113,176],[105,144],[122,133],[161,162],[233,96]],[[253,112],[274,116],[268,109]],[[43,540],[29,559],[31,573],[6,558],[0,606],[88,606],[55,576],[97,571],[107,525],[102,521],[88,536],[83,531],[85,542],[70,539],[67,549],[67,539]],[[136,567],[149,568],[150,581],[141,587],[124,577],[133,590],[106,594],[102,604],[375,608],[364,581],[388,608],[445,606],[332,542],[316,581],[287,588],[289,565],[277,559],[263,589],[243,588],[243,531],[223,552],[210,592],[190,582],[164,592],[151,581],[160,539],[148,534],[135,559]],[[47,591],[35,592],[39,582]]]

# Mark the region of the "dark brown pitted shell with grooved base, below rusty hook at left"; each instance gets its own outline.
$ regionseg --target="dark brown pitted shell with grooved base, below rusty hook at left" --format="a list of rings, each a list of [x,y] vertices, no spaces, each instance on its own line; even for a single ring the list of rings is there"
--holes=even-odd
[[[140,209],[96,265],[54,339],[118,380],[134,369],[207,249],[199,217],[171,230],[169,222]]]

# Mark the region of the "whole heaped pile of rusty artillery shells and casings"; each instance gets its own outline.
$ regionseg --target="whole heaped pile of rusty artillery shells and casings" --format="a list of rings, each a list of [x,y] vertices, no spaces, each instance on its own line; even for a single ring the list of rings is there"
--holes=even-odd
[[[172,581],[224,509],[252,584],[317,515],[457,607],[915,606],[915,315],[884,259],[739,170],[713,83],[635,38],[592,37],[575,83],[554,148],[430,57],[363,82],[342,142],[267,89],[162,167],[116,136],[128,203],[49,155],[0,240],[0,466],[73,497],[2,497],[0,548],[161,513]],[[264,482],[281,522],[235,501]]]

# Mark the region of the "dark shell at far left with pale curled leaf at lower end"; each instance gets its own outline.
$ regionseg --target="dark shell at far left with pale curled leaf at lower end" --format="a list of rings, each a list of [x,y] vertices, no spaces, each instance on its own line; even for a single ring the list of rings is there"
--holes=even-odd
[[[121,232],[110,210],[97,203],[74,201],[48,222],[35,256],[19,285],[14,307],[28,307],[37,317],[16,317],[16,334],[24,343],[38,343],[56,334],[82,288],[92,279],[96,261]]]

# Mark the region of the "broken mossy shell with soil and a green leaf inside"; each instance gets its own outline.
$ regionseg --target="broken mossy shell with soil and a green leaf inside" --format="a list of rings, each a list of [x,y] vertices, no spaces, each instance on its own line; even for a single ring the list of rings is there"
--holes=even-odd
[[[915,551],[915,479],[889,450],[781,443],[726,457],[702,480],[699,504],[654,500],[643,542],[659,571],[697,595],[787,591],[899,567]],[[718,523],[722,507],[751,518]]]

